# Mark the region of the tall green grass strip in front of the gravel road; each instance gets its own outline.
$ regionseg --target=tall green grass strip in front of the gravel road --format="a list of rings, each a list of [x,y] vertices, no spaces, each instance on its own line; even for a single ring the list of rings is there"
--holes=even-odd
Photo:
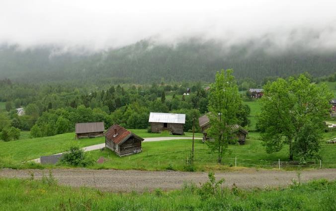
[[[220,185],[219,185],[220,186]],[[1,211],[335,211],[336,182],[320,179],[288,188],[255,190],[201,188],[185,183],[180,190],[110,193],[42,181],[0,179]]]

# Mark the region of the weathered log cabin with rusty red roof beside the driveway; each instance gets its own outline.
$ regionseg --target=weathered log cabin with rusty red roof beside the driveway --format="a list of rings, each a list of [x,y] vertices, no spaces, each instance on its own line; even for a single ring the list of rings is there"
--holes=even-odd
[[[136,154],[142,151],[143,138],[114,124],[105,132],[105,146],[119,156]]]

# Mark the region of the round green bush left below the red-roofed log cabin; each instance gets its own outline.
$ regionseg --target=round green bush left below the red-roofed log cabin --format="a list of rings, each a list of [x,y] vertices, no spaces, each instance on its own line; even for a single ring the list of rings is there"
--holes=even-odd
[[[63,153],[61,163],[70,166],[88,166],[93,164],[93,160],[87,158],[84,150],[79,146],[71,146],[70,149]]]

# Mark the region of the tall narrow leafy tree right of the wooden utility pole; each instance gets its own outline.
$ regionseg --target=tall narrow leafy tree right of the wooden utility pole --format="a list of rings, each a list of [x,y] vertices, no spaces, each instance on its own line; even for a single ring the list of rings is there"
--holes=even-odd
[[[207,133],[214,141],[208,141],[207,144],[212,151],[217,152],[218,162],[222,161],[231,139],[228,125],[237,124],[237,111],[241,104],[237,82],[232,73],[233,70],[217,72],[209,95],[208,116],[211,127],[207,129]]]

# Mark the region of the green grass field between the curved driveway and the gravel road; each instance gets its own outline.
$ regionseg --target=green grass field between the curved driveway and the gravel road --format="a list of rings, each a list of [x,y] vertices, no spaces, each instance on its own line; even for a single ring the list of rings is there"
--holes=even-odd
[[[333,136],[336,136],[335,132],[328,133],[326,139]],[[222,161],[224,165],[217,163],[216,153],[211,153],[206,144],[201,140],[195,140],[195,170],[227,170],[228,166],[235,165],[235,157],[237,157],[238,166],[243,167],[277,168],[278,159],[281,162],[288,161],[288,146],[284,146],[279,152],[268,154],[258,137],[258,133],[250,133],[249,141],[245,145],[229,145],[228,152]],[[95,169],[185,170],[186,160],[190,158],[191,145],[191,140],[143,142],[141,153],[125,157],[119,157],[109,149],[87,153],[95,160],[99,157],[106,159],[105,163],[92,166]],[[336,144],[322,144],[321,154],[326,161],[323,161],[323,167],[336,167],[335,151]],[[291,163],[281,165],[285,165],[285,169],[293,169]],[[319,167],[319,165],[316,166]]]

